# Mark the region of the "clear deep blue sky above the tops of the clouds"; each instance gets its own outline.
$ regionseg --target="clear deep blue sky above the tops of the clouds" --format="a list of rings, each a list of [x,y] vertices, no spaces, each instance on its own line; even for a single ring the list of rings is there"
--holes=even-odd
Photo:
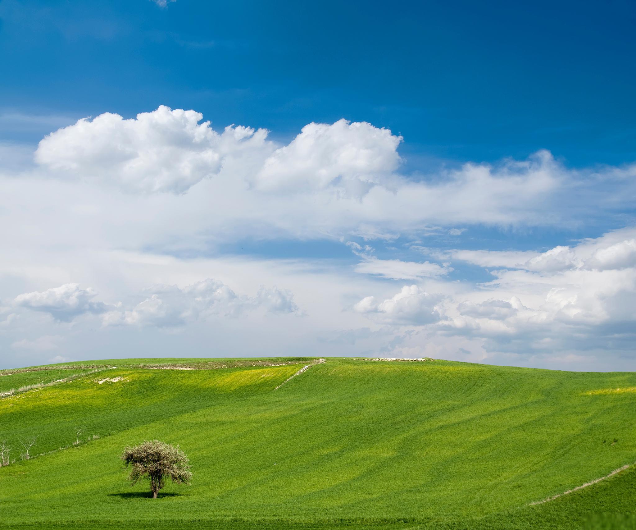
[[[0,97],[30,114],[165,104],[285,139],[365,120],[404,136],[413,169],[541,148],[577,167],[634,158],[630,2],[0,6]]]

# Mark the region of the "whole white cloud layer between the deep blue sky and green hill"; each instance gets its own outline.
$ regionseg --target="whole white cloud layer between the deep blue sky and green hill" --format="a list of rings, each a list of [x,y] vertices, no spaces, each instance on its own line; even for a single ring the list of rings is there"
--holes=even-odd
[[[370,123],[310,123],[280,143],[202,120],[105,113],[43,138],[34,167],[0,165],[0,348],[13,365],[81,355],[95,334],[95,358],[144,341],[168,354],[175,337],[206,355],[214,337],[212,352],[242,356],[635,361],[636,165],[568,169],[539,151],[422,175],[404,171],[404,139]],[[471,235],[595,220],[613,229],[548,249]],[[280,241],[347,244],[350,263],[251,251]]]

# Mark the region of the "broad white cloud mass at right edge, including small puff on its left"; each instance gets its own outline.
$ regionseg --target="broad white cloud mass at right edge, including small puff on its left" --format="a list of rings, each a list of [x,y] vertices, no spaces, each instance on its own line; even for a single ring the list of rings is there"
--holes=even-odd
[[[574,351],[630,351],[636,340],[635,232],[618,230],[544,253],[451,251],[483,267],[506,268],[491,270],[494,279],[475,289],[452,291],[438,283],[439,293],[422,298],[421,287],[404,287],[384,302],[363,298],[354,310],[380,316],[385,324],[424,326],[427,340],[480,340],[491,355],[570,352],[565,357],[575,362],[580,356]],[[420,302],[438,317],[414,309]]]

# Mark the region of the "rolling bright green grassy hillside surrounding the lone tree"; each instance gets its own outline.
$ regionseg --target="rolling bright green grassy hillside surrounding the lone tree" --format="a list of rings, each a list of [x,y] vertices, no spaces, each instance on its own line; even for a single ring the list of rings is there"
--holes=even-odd
[[[0,527],[636,528],[632,468],[529,505],[636,462],[636,373],[334,358],[275,389],[307,362],[113,359],[1,398],[11,457],[48,454],[0,468]],[[139,367],[170,363],[214,369]],[[153,438],[194,473],[156,500],[118,460]]]

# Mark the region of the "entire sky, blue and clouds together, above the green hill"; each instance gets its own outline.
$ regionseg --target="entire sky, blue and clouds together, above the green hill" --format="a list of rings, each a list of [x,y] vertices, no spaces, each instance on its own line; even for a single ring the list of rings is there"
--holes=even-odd
[[[0,0],[4,365],[151,345],[635,369],[635,19]]]

